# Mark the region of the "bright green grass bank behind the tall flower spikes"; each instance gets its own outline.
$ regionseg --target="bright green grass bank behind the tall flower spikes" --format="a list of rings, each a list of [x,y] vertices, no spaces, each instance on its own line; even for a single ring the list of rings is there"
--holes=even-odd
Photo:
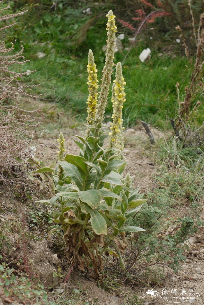
[[[66,9],[58,13],[45,12],[44,15],[21,19],[19,28],[24,24],[24,31],[17,29],[17,43],[23,42],[24,56],[30,59],[24,68],[37,72],[27,77],[27,83],[41,83],[37,93],[41,99],[48,102],[60,103],[66,113],[72,113],[79,120],[86,118],[86,100],[88,86],[86,84],[87,53],[91,48],[95,55],[95,62],[99,70],[99,79],[104,65],[105,53],[102,46],[105,44],[106,30],[105,16],[100,16],[90,22],[89,16],[82,13],[83,7],[78,10]],[[52,14],[54,14],[53,18]],[[30,14],[31,16],[32,14]],[[86,39],[77,42],[80,33],[83,33],[84,24],[90,22],[88,31],[84,33]],[[118,29],[121,29],[118,25]],[[128,47],[127,38],[123,47]],[[162,42],[161,42],[162,44]],[[184,88],[190,81],[191,68],[188,60],[183,56],[158,57],[158,53],[151,47],[151,59],[141,63],[138,56],[148,44],[139,42],[132,48],[123,67],[127,82],[126,103],[124,104],[125,126],[136,124],[137,120],[145,120],[150,124],[163,128],[166,120],[177,114],[176,84],[180,83],[180,100],[184,95]],[[44,52],[46,56],[38,59],[37,52]],[[122,61],[126,54],[115,54],[115,63]],[[167,69],[164,69],[167,68]],[[114,75],[113,75],[114,77]],[[113,78],[114,79],[114,78]],[[195,103],[202,96],[195,97]],[[110,115],[112,105],[108,101],[106,114]],[[201,123],[203,106],[199,108],[196,120]]]

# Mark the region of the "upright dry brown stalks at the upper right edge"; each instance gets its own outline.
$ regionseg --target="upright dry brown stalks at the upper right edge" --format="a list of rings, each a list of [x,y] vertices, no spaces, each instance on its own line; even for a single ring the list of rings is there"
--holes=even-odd
[[[183,41],[185,54],[189,59],[189,63],[191,64],[192,74],[191,81],[185,87],[185,95],[183,102],[180,102],[179,99],[179,84],[177,83],[176,85],[178,94],[178,115],[175,121],[171,119],[171,124],[174,128],[175,134],[180,134],[180,140],[182,139],[182,141],[188,142],[192,139],[193,136],[194,138],[197,138],[197,144],[200,144],[200,142],[203,142],[201,141],[201,132],[204,127],[204,124],[200,126],[197,130],[192,131],[189,122],[195,110],[197,110],[198,107],[201,105],[201,102],[199,100],[194,105],[195,97],[198,93],[204,92],[202,80],[202,68],[204,65],[204,13],[200,16],[199,28],[196,31],[193,12],[191,8],[191,0],[188,0],[188,5],[190,8],[193,35],[195,38],[195,44],[197,49],[195,54],[195,60],[193,60],[190,57],[182,29],[180,28],[180,26],[177,26],[176,30],[179,32],[180,38]]]

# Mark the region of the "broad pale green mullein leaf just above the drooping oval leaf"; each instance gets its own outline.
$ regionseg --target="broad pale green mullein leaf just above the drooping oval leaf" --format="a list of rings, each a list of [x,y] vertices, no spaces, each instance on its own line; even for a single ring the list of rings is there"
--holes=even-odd
[[[101,193],[98,190],[79,191],[79,199],[86,202],[92,209],[97,209],[101,200]]]

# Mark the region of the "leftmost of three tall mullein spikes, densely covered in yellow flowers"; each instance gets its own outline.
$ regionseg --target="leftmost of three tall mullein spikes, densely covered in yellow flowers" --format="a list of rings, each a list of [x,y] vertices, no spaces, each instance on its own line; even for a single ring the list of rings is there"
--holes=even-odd
[[[97,109],[97,97],[98,97],[98,80],[97,80],[97,72],[96,65],[94,62],[93,52],[89,50],[88,54],[88,65],[87,65],[88,82],[89,85],[89,97],[86,104],[88,104],[87,109],[87,124],[93,125],[93,120],[95,119],[96,109]],[[88,132],[88,131],[87,131]]]

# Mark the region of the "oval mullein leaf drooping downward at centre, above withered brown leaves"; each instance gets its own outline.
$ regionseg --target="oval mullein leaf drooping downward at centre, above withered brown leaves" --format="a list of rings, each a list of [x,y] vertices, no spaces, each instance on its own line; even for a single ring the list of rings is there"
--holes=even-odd
[[[103,216],[100,215],[100,213],[96,210],[90,211],[91,215],[91,226],[93,231],[97,235],[107,235],[107,224]]]

